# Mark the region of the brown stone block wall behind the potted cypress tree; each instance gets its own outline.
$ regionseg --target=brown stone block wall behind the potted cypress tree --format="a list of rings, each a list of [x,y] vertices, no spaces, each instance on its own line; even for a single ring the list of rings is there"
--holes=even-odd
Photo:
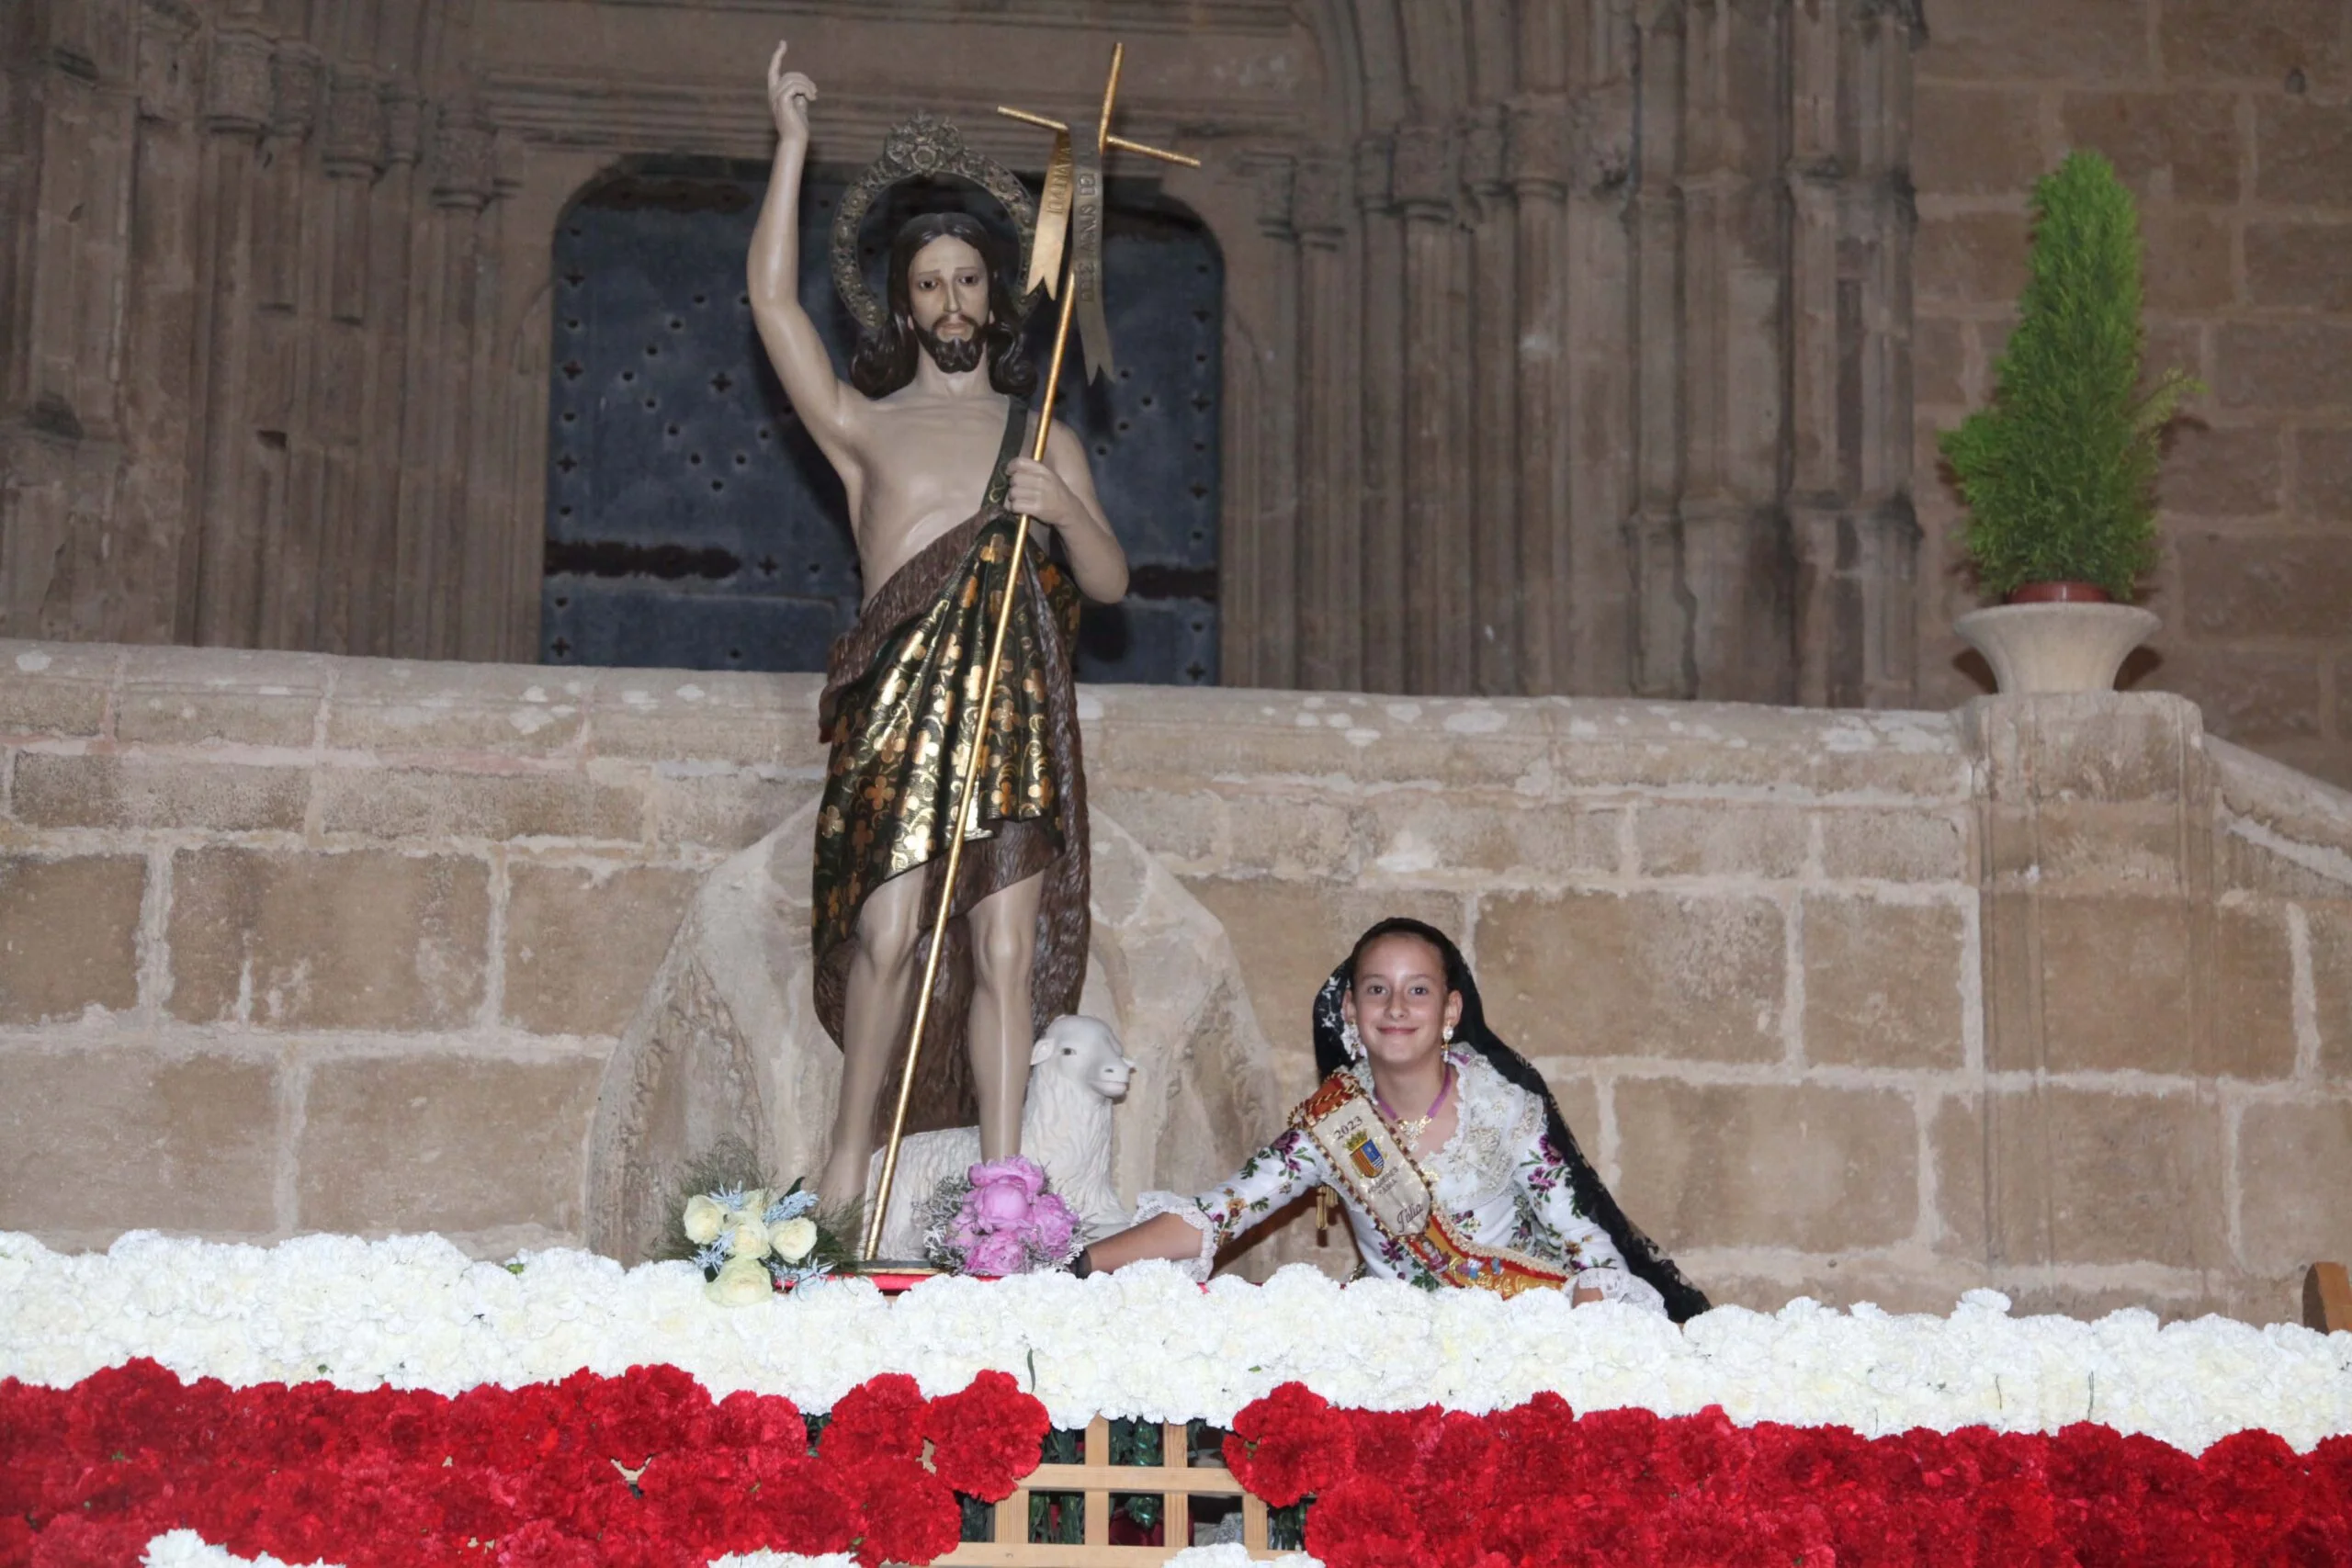
[[[2152,364],[2211,388],[2164,475],[2164,632],[2126,675],[2352,783],[2352,7],[1966,0],[1931,14],[1915,92],[1919,701],[1978,689],[1933,433],[1992,390],[2027,188],[2089,146],[2140,200]]]

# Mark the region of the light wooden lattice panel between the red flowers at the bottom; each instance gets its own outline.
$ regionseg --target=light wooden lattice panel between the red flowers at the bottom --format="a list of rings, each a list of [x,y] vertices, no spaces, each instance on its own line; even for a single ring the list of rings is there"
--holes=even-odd
[[[1192,1465],[1183,1422],[1160,1432],[1160,1465],[1112,1465],[1110,1422],[1087,1425],[1084,1465],[1040,1465],[1021,1488],[995,1507],[990,1540],[967,1540],[941,1563],[990,1563],[995,1568],[1117,1568],[1124,1563],[1164,1563],[1192,1544],[1192,1497],[1240,1497],[1242,1544],[1254,1559],[1272,1559],[1265,1544],[1265,1505],[1242,1490],[1221,1465]],[[1087,1540],[1082,1544],[1033,1544],[1028,1540],[1030,1493],[1077,1493],[1087,1500]],[[1157,1495],[1167,1509],[1157,1547],[1110,1544],[1112,1495]]]

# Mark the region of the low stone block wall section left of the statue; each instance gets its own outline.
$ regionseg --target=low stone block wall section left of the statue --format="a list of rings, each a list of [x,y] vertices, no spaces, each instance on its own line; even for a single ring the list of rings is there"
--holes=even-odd
[[[78,1246],[576,1241],[677,914],[814,788],[779,764],[800,708],[677,679],[607,677],[590,750],[590,682],[529,668],[9,644],[0,672],[0,1225]]]

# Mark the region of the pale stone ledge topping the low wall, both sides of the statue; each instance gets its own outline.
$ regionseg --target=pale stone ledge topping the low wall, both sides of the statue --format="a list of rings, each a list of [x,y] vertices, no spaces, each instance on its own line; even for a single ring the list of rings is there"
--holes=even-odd
[[[233,649],[0,639],[0,731],[125,745],[278,748],[369,759],[637,757],[821,776],[816,675],[419,665]],[[89,712],[103,693],[111,729]],[[99,703],[103,708],[103,703]],[[1759,799],[1969,797],[1945,715],[1602,698],[1388,698],[1197,686],[1084,686],[1089,769],[1566,797],[1670,790]],[[26,722],[26,733],[49,733]]]

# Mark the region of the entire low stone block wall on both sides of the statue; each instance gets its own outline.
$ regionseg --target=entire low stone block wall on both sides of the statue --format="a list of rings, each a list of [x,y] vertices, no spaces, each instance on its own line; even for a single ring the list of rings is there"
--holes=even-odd
[[[0,1227],[576,1241],[604,1060],[814,792],[814,696],[0,644]],[[1082,703],[1287,1093],[1355,933],[1432,919],[1724,1300],[2279,1319],[2352,1253],[2352,797],[2180,698]]]

